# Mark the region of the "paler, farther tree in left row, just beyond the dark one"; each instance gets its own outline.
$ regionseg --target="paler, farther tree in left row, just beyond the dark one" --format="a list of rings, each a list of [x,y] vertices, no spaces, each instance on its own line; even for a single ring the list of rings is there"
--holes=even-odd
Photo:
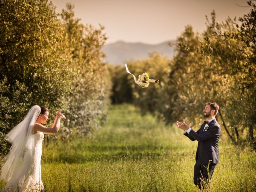
[[[67,126],[76,127],[79,134],[92,136],[93,130],[106,119],[111,83],[107,66],[102,62],[104,53],[101,48],[107,38],[102,34],[103,26],[100,29],[90,24],[84,26],[74,18],[74,6],[67,4],[66,8],[61,16],[71,51],[70,65],[76,69]]]

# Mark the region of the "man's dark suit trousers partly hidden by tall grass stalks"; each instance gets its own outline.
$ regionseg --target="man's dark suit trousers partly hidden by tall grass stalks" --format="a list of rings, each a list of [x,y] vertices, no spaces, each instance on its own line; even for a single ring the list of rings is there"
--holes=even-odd
[[[208,181],[212,178],[215,166],[216,164],[214,163],[201,165],[197,160],[194,166],[194,184],[200,189],[205,188]]]

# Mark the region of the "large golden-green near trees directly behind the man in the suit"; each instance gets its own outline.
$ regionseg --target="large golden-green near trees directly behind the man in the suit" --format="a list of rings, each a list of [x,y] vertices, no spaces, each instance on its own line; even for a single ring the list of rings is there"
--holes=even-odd
[[[195,117],[202,114],[204,103],[216,101],[220,105],[217,118],[230,138],[239,141],[246,134],[245,140],[255,142],[256,20],[255,5],[248,4],[252,10],[239,18],[240,26],[231,18],[216,22],[213,11],[202,34],[192,35],[188,26],[178,38],[168,87],[177,108],[166,113],[167,118],[178,114],[197,125],[201,120]]]

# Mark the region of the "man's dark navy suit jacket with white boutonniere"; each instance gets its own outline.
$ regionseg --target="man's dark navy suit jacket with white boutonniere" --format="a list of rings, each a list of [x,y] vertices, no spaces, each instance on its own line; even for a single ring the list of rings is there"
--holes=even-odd
[[[196,150],[196,161],[199,160],[201,165],[209,163],[217,164],[219,162],[219,139],[220,139],[220,125],[217,120],[212,120],[208,125],[209,128],[204,130],[204,123],[197,132],[190,130],[189,134],[184,135],[190,140],[198,141]]]

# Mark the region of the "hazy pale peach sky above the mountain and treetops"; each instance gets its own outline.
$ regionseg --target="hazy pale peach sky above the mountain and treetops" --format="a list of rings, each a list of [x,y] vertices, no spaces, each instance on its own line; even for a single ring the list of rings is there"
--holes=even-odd
[[[216,12],[216,20],[243,16],[250,11],[246,0],[52,0],[61,12],[67,2],[74,4],[76,18],[83,24],[105,26],[107,43],[123,40],[157,44],[175,40],[191,24],[205,29],[205,15]],[[236,5],[238,4],[238,5]]]

